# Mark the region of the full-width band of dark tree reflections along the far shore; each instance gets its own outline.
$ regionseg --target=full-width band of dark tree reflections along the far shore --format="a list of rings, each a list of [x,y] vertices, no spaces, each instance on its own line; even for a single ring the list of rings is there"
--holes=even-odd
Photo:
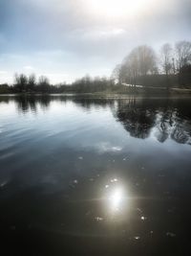
[[[191,101],[190,99],[141,99],[127,100],[93,99],[80,96],[3,96],[0,103],[16,103],[18,111],[36,112],[38,106],[47,110],[52,101],[66,103],[73,101],[75,105],[90,109],[91,107],[110,107],[117,120],[136,138],[148,138],[152,134],[163,143],[168,138],[182,143],[191,144]],[[117,107],[116,107],[117,104]]]

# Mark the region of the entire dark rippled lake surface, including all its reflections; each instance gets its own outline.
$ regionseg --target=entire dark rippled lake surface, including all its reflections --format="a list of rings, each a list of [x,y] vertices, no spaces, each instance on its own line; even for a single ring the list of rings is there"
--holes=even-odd
[[[0,97],[2,255],[191,255],[191,99]]]

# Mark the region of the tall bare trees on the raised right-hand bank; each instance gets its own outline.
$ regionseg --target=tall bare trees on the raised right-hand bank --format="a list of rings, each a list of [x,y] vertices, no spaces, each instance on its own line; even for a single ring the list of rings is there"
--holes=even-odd
[[[191,42],[165,43],[158,54],[147,45],[134,48],[115,68],[117,83],[191,88]]]

